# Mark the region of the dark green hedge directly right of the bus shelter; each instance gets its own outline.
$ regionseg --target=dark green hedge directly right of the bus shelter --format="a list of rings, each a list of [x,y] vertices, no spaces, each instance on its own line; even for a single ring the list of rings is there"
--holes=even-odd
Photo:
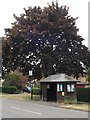
[[[77,88],[77,101],[90,103],[90,88]]]

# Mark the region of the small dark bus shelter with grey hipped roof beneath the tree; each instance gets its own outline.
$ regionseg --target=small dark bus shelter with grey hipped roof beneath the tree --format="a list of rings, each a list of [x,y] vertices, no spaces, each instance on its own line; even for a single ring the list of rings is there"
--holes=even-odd
[[[55,74],[40,80],[43,101],[77,101],[76,80],[66,74]]]

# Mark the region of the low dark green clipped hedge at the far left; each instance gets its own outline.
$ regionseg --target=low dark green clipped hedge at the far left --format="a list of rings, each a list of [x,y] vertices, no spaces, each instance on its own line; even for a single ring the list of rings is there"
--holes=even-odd
[[[17,91],[18,91],[18,89],[15,86],[2,87],[2,93],[14,94],[14,93],[17,93]]]

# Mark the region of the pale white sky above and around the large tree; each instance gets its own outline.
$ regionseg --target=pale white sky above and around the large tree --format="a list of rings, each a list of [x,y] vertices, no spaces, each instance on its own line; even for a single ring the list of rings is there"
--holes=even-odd
[[[15,21],[13,14],[19,16],[24,13],[23,8],[29,6],[47,6],[56,0],[0,0],[0,37],[4,36],[4,29],[10,28]],[[80,34],[85,40],[83,44],[88,46],[88,0],[58,0],[59,6],[69,7],[69,15],[78,17],[76,25]]]

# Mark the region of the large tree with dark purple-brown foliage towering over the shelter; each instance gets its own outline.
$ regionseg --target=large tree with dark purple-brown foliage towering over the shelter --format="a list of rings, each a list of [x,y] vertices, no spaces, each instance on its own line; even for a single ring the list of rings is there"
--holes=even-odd
[[[48,7],[24,8],[24,13],[5,30],[3,67],[25,73],[30,69],[35,77],[54,73],[83,74],[90,64],[90,52],[78,34],[77,18],[68,13],[67,6],[58,3]]]

